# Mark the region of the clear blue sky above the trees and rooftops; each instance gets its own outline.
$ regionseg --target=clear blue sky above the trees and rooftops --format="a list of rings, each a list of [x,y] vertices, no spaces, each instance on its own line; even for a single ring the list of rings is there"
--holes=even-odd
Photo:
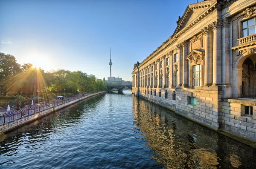
[[[198,0],[201,2],[202,0]],[[196,0],[0,0],[0,52],[17,62],[132,80]]]

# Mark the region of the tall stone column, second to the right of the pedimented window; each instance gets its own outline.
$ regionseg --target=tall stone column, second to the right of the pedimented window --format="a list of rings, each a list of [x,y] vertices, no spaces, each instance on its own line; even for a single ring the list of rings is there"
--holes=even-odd
[[[213,80],[212,86],[221,86],[221,20],[217,19],[213,26]]]

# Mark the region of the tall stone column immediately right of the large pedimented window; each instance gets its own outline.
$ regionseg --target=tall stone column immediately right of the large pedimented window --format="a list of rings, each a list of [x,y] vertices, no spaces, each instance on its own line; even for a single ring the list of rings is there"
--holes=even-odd
[[[202,29],[205,36],[204,86],[212,86],[212,27]]]

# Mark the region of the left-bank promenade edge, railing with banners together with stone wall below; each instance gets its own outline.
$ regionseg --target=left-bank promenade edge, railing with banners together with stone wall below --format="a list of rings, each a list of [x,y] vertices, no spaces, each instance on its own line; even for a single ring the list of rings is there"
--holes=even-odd
[[[61,101],[59,103],[52,103],[52,104],[48,104],[48,106],[46,105],[38,105],[38,109],[28,109],[26,114],[23,115],[22,112],[11,115],[9,117],[0,117],[1,118],[1,123],[2,125],[0,125],[0,135],[4,132],[8,132],[12,129],[17,128],[18,126],[21,126],[23,124],[29,123],[33,120],[36,120],[40,117],[43,117],[49,113],[55,112],[59,109],[63,109],[64,107],[70,106],[74,103],[77,103],[81,100],[84,100],[88,97],[92,97],[95,95],[99,95],[99,94],[103,94],[107,91],[104,92],[96,92],[96,93],[92,93],[86,96],[77,96],[77,97],[71,97],[69,100],[66,101]],[[10,120],[11,119],[11,120]]]

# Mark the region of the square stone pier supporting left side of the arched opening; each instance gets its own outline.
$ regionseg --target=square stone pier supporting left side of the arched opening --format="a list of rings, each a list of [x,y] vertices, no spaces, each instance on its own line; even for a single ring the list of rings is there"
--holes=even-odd
[[[241,97],[242,70],[244,68],[233,68],[233,98]]]

